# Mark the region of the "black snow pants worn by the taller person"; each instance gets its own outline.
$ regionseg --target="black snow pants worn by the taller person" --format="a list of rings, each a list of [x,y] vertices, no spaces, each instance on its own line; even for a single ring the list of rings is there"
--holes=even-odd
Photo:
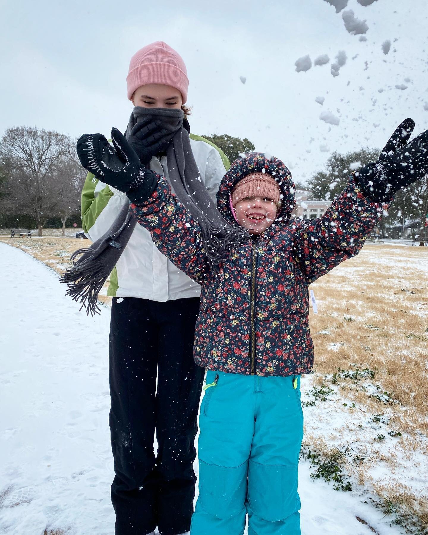
[[[193,360],[198,311],[197,297],[166,303],[113,299],[109,423],[116,535],[145,535],[156,526],[163,535],[190,529],[204,377]]]

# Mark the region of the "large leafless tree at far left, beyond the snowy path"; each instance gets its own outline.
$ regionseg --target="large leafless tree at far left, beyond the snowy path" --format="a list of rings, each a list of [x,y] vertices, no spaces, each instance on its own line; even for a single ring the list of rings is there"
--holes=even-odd
[[[70,136],[36,127],[8,128],[0,142],[0,174],[7,181],[2,208],[34,217],[39,236],[69,189],[70,173],[62,172],[73,167],[71,154]]]

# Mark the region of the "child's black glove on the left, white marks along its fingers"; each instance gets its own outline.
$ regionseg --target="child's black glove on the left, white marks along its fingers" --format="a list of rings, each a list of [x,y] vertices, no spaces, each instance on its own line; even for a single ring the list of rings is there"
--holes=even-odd
[[[140,158],[117,128],[111,144],[101,134],[83,134],[76,146],[80,163],[105,184],[126,193],[135,204],[147,201],[157,185],[156,174]]]

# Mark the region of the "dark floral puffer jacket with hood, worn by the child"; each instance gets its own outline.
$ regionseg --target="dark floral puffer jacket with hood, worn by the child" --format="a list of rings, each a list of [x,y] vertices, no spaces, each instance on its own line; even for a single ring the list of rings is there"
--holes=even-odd
[[[157,248],[202,285],[194,356],[208,370],[243,375],[309,373],[308,286],[361,250],[388,205],[363,196],[353,175],[323,217],[290,219],[294,184],[277,158],[253,153],[236,160],[221,181],[218,208],[234,223],[230,193],[254,171],[277,180],[282,209],[264,234],[233,249],[216,273],[209,269],[200,228],[163,177],[143,206],[131,205]]]

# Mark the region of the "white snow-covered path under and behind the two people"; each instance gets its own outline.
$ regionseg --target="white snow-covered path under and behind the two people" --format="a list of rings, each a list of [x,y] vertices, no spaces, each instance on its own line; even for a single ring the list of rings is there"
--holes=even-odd
[[[109,311],[87,318],[57,276],[0,243],[0,533],[112,535]],[[300,467],[303,535],[402,533]],[[209,535],[209,534],[207,534]]]

